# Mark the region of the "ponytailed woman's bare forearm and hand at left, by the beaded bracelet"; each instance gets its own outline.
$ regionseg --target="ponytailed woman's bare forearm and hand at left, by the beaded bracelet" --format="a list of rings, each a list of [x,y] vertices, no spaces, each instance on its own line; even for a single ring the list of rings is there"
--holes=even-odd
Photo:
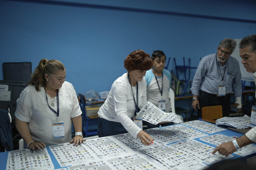
[[[26,122],[20,121],[19,119],[15,118],[16,121],[16,128],[21,135],[22,139],[25,141],[25,143],[28,145],[31,141],[33,141],[33,138],[31,137],[31,134],[29,132],[29,126]],[[33,142],[29,146],[29,149],[34,150],[36,148],[40,149],[45,147],[46,145],[43,142]]]

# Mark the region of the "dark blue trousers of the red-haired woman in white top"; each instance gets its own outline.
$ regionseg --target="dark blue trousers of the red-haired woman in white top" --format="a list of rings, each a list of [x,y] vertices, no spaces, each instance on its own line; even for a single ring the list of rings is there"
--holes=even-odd
[[[128,131],[119,122],[109,121],[103,118],[98,118],[98,136],[105,137],[111,135],[119,135],[128,133]]]

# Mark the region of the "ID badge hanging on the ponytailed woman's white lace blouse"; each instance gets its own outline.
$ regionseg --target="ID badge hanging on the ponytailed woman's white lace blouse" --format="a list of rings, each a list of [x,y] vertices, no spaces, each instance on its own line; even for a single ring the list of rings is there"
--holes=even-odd
[[[64,120],[57,119],[55,121],[51,121],[52,129],[53,129],[53,139],[64,138],[65,130],[64,130]]]

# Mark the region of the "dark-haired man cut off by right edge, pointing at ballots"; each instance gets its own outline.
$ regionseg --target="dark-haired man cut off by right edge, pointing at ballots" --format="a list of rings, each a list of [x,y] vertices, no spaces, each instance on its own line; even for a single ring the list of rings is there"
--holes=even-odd
[[[247,72],[254,73],[253,77],[256,84],[256,34],[244,37],[239,44],[239,48],[242,64]],[[228,156],[237,149],[255,142],[256,127],[232,142],[222,143],[221,145],[217,146],[213,151],[213,154],[218,151],[219,154]]]

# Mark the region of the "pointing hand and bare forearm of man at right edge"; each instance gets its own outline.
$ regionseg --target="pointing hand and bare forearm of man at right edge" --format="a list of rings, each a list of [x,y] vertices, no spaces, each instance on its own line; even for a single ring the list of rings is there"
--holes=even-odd
[[[253,141],[251,141],[249,138],[247,138],[246,135],[243,135],[243,136],[237,138],[236,141],[237,141],[237,144],[239,147],[243,147],[243,146],[253,143]],[[228,156],[229,154],[232,154],[236,150],[237,149],[235,148],[233,142],[227,142],[227,143],[222,143],[221,145],[217,146],[214,149],[212,154],[215,154],[218,151],[219,154]]]

